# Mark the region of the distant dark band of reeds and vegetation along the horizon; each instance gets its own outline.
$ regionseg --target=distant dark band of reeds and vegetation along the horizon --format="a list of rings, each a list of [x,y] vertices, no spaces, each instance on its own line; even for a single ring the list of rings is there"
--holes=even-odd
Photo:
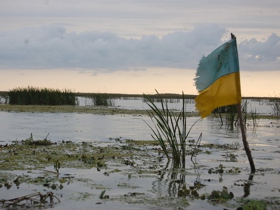
[[[92,99],[94,106],[115,107],[115,99],[142,99],[143,102],[180,102],[184,98],[185,103],[194,103],[194,98],[197,95],[183,95],[173,93],[157,93],[157,94],[120,94],[120,93],[79,93],[73,92],[70,89],[51,89],[51,88],[38,88],[28,86],[27,88],[14,88],[10,91],[0,91],[0,104],[12,105],[48,105],[48,106],[61,106],[78,104],[77,97],[87,97]],[[149,100],[148,100],[149,98]],[[260,101],[260,103],[269,102],[271,104],[272,117],[280,115],[280,97],[242,97],[242,113],[246,124],[247,119],[253,119],[257,123],[258,115],[256,112],[251,111],[247,113],[247,100]],[[4,110],[3,110],[4,109]],[[9,110],[11,107],[9,107]],[[76,112],[76,109],[72,112]],[[5,111],[4,106],[1,110]],[[67,109],[69,112],[69,109]],[[61,111],[59,109],[59,111]],[[80,112],[80,108],[79,111]],[[82,111],[81,111],[82,112]],[[85,111],[86,113],[89,111]],[[111,110],[109,110],[109,113]],[[130,111],[131,112],[131,111]],[[221,124],[236,124],[238,118],[236,117],[235,106],[227,106],[214,110],[213,114],[221,120]],[[263,118],[264,116],[262,116]],[[226,118],[223,120],[223,118]],[[224,121],[224,122],[223,122]]]

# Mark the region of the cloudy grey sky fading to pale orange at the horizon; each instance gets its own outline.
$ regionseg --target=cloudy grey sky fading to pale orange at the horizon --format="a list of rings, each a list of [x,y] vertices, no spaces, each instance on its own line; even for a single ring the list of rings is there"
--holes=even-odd
[[[0,0],[0,91],[198,94],[231,33],[242,96],[279,96],[279,0]]]

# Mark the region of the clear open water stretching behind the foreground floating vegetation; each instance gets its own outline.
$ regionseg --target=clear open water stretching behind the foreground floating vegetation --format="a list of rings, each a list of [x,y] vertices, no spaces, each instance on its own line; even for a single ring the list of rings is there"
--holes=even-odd
[[[81,103],[80,103],[81,104]],[[119,109],[148,109],[142,100],[116,100]],[[119,104],[119,105],[118,105]],[[145,105],[146,104],[146,105]],[[160,104],[158,104],[160,105]],[[180,110],[181,103],[169,103],[169,107]],[[268,102],[250,101],[249,107],[254,107],[260,114],[271,113],[271,104]],[[194,104],[188,103],[187,108],[194,111]],[[198,117],[189,117],[190,127]],[[0,112],[0,144],[11,144],[12,141],[21,141],[33,134],[33,139],[47,139],[53,142],[108,142],[110,139],[123,138],[133,140],[153,140],[151,130],[145,121],[152,125],[148,116],[132,115],[94,115],[77,113],[10,113]],[[260,119],[258,127],[247,126],[246,136],[250,149],[255,152],[256,160],[269,159],[279,152],[280,121]],[[221,126],[215,118],[205,118],[199,121],[191,130],[189,139],[197,140],[203,134],[202,143],[233,143],[241,142],[238,128],[234,130]],[[261,152],[260,152],[261,151]],[[261,154],[261,155],[260,155]],[[253,155],[254,156],[254,155]],[[278,158],[275,156],[274,159]],[[262,163],[261,163],[262,164]],[[275,164],[266,162],[269,167]]]

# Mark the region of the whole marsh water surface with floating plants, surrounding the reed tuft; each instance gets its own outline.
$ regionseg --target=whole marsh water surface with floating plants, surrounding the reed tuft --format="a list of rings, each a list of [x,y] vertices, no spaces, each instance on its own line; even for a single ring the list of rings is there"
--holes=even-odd
[[[92,104],[80,98],[79,106]],[[180,106],[180,102],[169,103],[175,111]],[[148,106],[141,99],[117,99],[111,109],[147,110]],[[272,114],[267,101],[250,101],[250,110]],[[194,112],[193,103],[187,104],[187,111]],[[221,126],[214,117],[199,121],[187,139],[185,168],[174,168],[152,141],[145,123],[152,123],[149,116],[114,113],[0,112],[0,200],[52,192],[60,202],[53,198],[53,203],[35,209],[236,209],[246,205],[265,209],[264,204],[267,209],[280,208],[278,119],[260,118],[258,126],[246,127],[257,169],[251,174],[238,127]],[[198,119],[188,117],[188,127]],[[57,144],[21,145],[31,133],[34,140],[46,138]],[[201,133],[200,151],[192,163],[190,154]],[[48,164],[43,164],[46,159]],[[213,192],[231,192],[234,197],[211,198]]]

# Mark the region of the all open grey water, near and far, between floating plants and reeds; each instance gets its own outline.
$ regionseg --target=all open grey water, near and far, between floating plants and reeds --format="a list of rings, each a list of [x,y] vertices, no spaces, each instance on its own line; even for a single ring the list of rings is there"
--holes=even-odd
[[[149,109],[147,104],[142,100],[122,100],[117,99],[116,106],[119,109]],[[82,103],[80,103],[80,106]],[[159,104],[158,104],[159,105]],[[86,106],[84,104],[83,106]],[[90,106],[90,104],[87,104]],[[180,103],[170,103],[169,107],[174,110],[180,110]],[[268,102],[250,101],[252,110],[260,114],[268,114],[272,112],[271,104]],[[187,104],[187,110],[193,112],[194,104]],[[188,127],[190,127],[198,117],[189,117]],[[0,144],[11,144],[15,140],[25,140],[33,134],[33,139],[47,139],[53,142],[74,141],[74,142],[112,142],[111,138],[123,138],[133,140],[153,140],[150,136],[151,130],[145,121],[151,124],[148,116],[132,116],[132,115],[94,115],[94,114],[77,114],[77,113],[10,113],[0,112]],[[253,178],[253,185],[249,188],[249,196],[251,199],[264,199],[265,197],[280,197],[280,121],[260,119],[258,127],[247,126],[246,135],[251,153],[254,158],[257,173]],[[133,172],[130,166],[110,165],[108,168],[97,171],[96,168],[88,170],[77,170],[71,168],[62,168],[60,176],[64,174],[74,174],[76,180],[65,186],[58,193],[63,194],[61,203],[55,204],[55,209],[174,209],[176,201],[168,200],[167,197],[177,197],[178,184],[174,180],[182,180],[187,185],[193,186],[194,181],[200,181],[206,186],[204,192],[211,193],[212,190],[221,190],[222,186],[227,186],[235,197],[242,197],[247,194],[244,182],[249,179],[249,164],[244,150],[242,149],[242,140],[240,130],[228,129],[221,126],[219,121],[214,118],[206,118],[197,122],[192,128],[188,140],[198,140],[202,133],[202,143],[214,144],[239,144],[238,151],[223,151],[213,148],[210,154],[198,155],[195,159],[199,168],[193,167],[188,161],[186,171],[184,173],[174,173],[173,171],[165,171],[161,175],[158,174],[132,174],[129,178],[128,174]],[[1,151],[0,151],[1,152]],[[228,152],[237,156],[237,161],[229,160]],[[156,156],[157,152],[147,153],[147,160],[137,160],[139,165],[148,162],[148,158]],[[166,162],[157,166],[159,170],[163,170]],[[227,168],[240,167],[241,173],[233,174],[208,174],[209,168],[215,169],[220,164]],[[147,164],[146,164],[147,165]],[[147,167],[143,164],[143,167]],[[103,173],[109,170],[120,169],[121,173],[110,173],[105,176]],[[52,167],[46,168],[53,170]],[[167,169],[169,169],[167,167]],[[1,170],[1,169],[0,169]],[[271,171],[271,173],[270,173]],[[26,171],[13,171],[13,174],[26,174]],[[43,172],[33,170],[29,175],[37,177]],[[50,175],[51,176],[51,175]],[[210,181],[209,181],[210,180]],[[131,187],[120,187],[120,184],[129,185]],[[233,183],[236,183],[234,185]],[[106,188],[106,194],[110,195],[109,200],[100,200],[99,194],[102,188]],[[133,188],[135,187],[135,188]],[[42,188],[42,187],[41,187]],[[11,188],[10,190],[0,188],[0,199],[8,199],[11,197],[22,196],[34,192],[39,186],[26,185],[22,183],[19,189]],[[42,188],[44,189],[44,188]],[[145,205],[136,204],[137,198],[127,198],[127,200],[119,199],[120,195],[129,193],[144,193],[142,200],[147,199]],[[158,208],[149,202],[149,199],[157,199],[166,197],[162,200],[162,205]],[[85,199],[85,200],[83,200]],[[276,199],[277,200],[277,199]],[[86,201],[86,202],[85,202]],[[101,202],[101,204],[96,204]],[[135,203],[134,203],[135,202]],[[166,203],[167,202],[167,203]],[[172,202],[175,202],[172,205]],[[212,206],[206,201],[193,200],[190,201],[191,209],[223,209],[222,206]],[[170,207],[171,206],[171,207]],[[226,207],[227,209],[236,209]],[[186,207],[188,209],[188,207]]]

